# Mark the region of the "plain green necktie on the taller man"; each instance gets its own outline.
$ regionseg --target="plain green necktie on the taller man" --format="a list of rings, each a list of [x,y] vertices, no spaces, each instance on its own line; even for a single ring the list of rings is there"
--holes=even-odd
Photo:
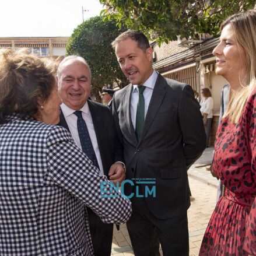
[[[139,100],[137,105],[137,111],[136,111],[136,135],[137,139],[141,139],[141,134],[144,127],[144,120],[145,120],[145,100],[143,96],[143,92],[145,90],[145,86],[137,86],[137,90],[139,92]]]

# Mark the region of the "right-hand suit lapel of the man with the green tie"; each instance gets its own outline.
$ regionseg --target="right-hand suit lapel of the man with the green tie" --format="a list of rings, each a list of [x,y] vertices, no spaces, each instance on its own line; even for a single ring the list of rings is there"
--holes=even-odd
[[[155,118],[157,111],[159,110],[162,104],[164,96],[166,95],[166,87],[166,80],[163,78],[162,75],[158,75],[155,87],[153,89],[152,97],[149,103],[148,112],[146,114],[144,128],[141,135],[141,141],[144,138],[145,134],[147,133],[150,125],[152,124],[152,121]]]

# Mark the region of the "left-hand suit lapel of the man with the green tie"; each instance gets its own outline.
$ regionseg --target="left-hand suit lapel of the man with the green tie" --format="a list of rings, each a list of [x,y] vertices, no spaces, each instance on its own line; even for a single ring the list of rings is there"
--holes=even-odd
[[[124,116],[125,116],[125,124],[127,124],[127,128],[131,135],[132,141],[134,142],[135,145],[137,145],[138,141],[135,134],[134,126],[132,125],[131,107],[130,107],[133,88],[134,87],[130,84],[123,95],[123,103],[124,103],[123,109],[124,109]]]

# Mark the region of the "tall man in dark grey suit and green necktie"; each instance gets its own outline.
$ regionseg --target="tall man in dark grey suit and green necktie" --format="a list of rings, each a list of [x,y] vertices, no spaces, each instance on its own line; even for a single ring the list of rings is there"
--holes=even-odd
[[[160,241],[164,255],[188,255],[187,170],[206,145],[200,106],[190,85],[153,70],[144,34],[126,31],[112,45],[131,82],[114,94],[112,108],[133,181],[124,188],[134,195],[127,223],[132,247],[137,256],[159,255]]]

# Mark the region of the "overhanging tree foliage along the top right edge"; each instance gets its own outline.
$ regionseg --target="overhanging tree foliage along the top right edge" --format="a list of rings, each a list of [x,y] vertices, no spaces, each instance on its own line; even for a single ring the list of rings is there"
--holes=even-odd
[[[142,30],[159,43],[200,34],[218,36],[220,23],[241,10],[253,9],[255,0],[100,0],[117,25]],[[155,37],[155,38],[154,38]]]

